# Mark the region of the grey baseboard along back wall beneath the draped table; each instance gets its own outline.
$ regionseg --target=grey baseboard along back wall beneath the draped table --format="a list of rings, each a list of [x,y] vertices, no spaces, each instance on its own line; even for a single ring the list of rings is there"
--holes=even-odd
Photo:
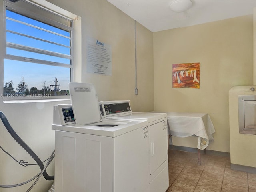
[[[178,150],[178,151],[192,152],[192,153],[198,153],[198,148],[192,148],[192,147],[169,145],[169,149],[174,149],[174,150]],[[204,150],[200,150],[200,153],[203,154]],[[228,152],[213,151],[213,150],[208,150],[207,148],[206,148],[206,154],[214,155],[214,156],[221,156],[221,157],[230,157],[230,153],[228,153]]]

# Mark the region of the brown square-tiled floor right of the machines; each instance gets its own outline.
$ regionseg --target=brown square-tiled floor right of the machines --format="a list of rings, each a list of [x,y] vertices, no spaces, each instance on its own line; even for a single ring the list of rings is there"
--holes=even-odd
[[[168,192],[256,192],[256,174],[230,169],[230,158],[169,150]]]

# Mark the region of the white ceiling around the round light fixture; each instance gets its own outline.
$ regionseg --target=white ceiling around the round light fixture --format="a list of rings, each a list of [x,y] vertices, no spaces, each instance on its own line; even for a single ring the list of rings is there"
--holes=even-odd
[[[108,0],[152,32],[192,26],[252,14],[256,0],[191,0],[192,7],[176,13],[174,0]]]

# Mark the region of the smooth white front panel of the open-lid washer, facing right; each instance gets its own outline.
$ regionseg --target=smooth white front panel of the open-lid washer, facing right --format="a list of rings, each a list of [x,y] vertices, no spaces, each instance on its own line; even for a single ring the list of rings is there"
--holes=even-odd
[[[148,136],[139,128],[114,138],[114,192],[149,192]]]

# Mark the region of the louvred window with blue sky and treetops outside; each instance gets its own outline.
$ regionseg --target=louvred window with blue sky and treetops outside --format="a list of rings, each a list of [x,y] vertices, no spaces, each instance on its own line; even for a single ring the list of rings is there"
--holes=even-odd
[[[73,20],[25,0],[4,2],[4,97],[69,95]]]

